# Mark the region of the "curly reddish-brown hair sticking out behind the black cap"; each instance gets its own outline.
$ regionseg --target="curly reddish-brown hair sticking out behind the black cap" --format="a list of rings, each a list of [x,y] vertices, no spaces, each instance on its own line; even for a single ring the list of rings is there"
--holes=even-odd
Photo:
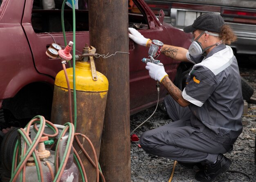
[[[230,45],[232,42],[235,42],[237,37],[229,25],[222,25],[220,29],[220,39],[224,44]]]

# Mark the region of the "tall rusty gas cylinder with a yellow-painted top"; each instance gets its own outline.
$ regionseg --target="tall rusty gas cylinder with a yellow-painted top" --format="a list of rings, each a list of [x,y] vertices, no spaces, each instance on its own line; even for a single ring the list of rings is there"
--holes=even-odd
[[[67,68],[67,75],[73,98],[73,68]],[[90,63],[87,61],[76,62],[75,77],[77,105],[76,133],[85,134],[92,141],[97,158],[99,159],[101,134],[108,94],[108,79],[100,72],[97,72],[98,80],[94,81],[92,79]],[[74,116],[73,104],[72,99],[72,112]],[[64,123],[70,122],[69,118],[67,81],[64,70],[61,70],[55,79],[51,122],[63,125]],[[94,155],[89,143],[82,138],[79,139],[94,161]],[[92,164],[85,157],[80,147],[76,145],[76,142],[73,145],[76,151],[79,152],[88,181],[96,181],[96,169],[92,167]],[[81,181],[81,178],[79,181]]]

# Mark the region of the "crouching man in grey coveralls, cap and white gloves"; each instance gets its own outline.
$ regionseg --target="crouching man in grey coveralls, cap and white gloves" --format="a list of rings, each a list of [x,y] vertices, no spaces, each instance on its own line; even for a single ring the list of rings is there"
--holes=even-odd
[[[129,37],[137,44],[150,46],[150,39],[129,28]],[[243,97],[240,74],[231,44],[236,36],[218,14],[205,13],[184,32],[193,33],[189,50],[164,45],[161,52],[193,66],[183,91],[169,79],[164,66],[147,63],[151,78],[168,90],[164,104],[174,121],[144,132],[141,147],[150,154],[201,165],[195,178],[212,182],[231,166],[223,154],[232,150],[243,125]]]

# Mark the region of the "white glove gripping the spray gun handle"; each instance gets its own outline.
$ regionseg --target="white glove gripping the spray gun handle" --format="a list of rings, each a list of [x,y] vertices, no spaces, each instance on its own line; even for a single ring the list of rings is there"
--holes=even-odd
[[[155,81],[162,82],[162,79],[168,76],[168,74],[164,70],[164,66],[159,66],[157,64],[147,62],[146,69],[149,72],[149,76]]]

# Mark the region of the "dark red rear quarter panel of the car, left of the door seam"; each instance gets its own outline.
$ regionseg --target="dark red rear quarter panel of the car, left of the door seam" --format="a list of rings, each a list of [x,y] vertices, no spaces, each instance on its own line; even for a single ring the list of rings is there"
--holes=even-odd
[[[20,24],[25,0],[2,0],[0,7],[0,107],[33,78],[34,64]],[[15,11],[14,11],[15,10]]]

